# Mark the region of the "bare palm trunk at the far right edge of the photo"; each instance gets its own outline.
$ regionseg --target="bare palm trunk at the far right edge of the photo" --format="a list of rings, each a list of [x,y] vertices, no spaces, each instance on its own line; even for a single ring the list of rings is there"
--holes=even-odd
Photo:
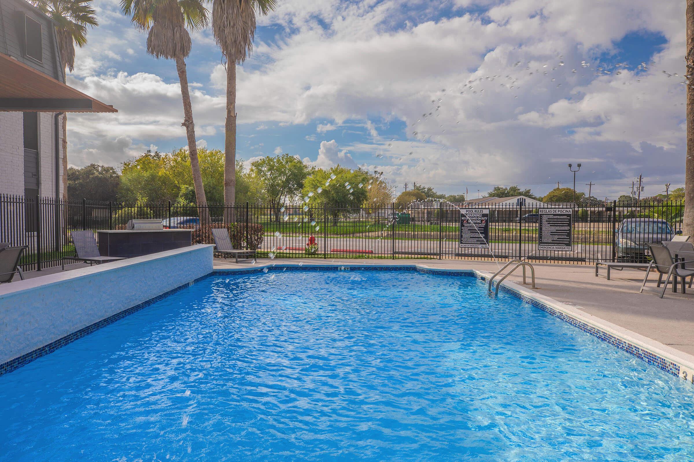
[[[684,218],[682,232],[686,236],[694,234],[694,0],[686,0],[687,29],[687,148],[684,161]]]

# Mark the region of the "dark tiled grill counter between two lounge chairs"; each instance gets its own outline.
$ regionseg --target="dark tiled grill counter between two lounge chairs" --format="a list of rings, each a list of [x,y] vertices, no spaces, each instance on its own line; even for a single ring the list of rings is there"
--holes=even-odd
[[[110,257],[139,257],[166,250],[190,247],[192,229],[97,231],[99,253]]]

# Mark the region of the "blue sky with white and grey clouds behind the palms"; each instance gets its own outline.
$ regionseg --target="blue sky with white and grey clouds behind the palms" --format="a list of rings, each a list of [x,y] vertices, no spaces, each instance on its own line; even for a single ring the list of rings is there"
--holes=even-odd
[[[70,163],[117,166],[185,145],[174,63],[146,54],[146,35],[117,0],[95,3],[101,26],[69,84],[119,114],[71,116]],[[679,3],[280,1],[237,68],[237,156],[364,166],[398,190],[416,181],[543,194],[570,186],[568,162],[582,162],[577,183],[593,181],[598,197],[629,193],[639,174],[645,194],[675,188],[685,145]],[[198,143],[223,148],[225,71],[210,30],[193,34],[187,69]]]

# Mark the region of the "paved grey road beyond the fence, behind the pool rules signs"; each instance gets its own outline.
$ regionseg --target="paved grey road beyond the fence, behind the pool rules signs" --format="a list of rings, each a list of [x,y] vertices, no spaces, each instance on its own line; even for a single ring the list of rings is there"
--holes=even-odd
[[[307,242],[307,236],[282,236],[276,238],[276,236],[265,236],[265,240],[261,247],[262,250],[271,251],[273,248],[284,250],[285,247],[287,251],[291,251],[298,254],[303,254],[303,249],[305,243]],[[396,255],[422,255],[422,256],[438,256],[439,255],[439,241],[438,240],[391,240],[389,238],[375,239],[375,238],[355,238],[355,237],[329,237],[327,242],[322,236],[316,237],[316,243],[318,244],[319,254],[323,254],[326,247],[328,253],[332,251],[335,253],[348,254],[352,251],[355,254],[380,254],[380,255],[392,255],[393,254],[393,244],[395,245]],[[458,247],[458,242],[455,241],[443,241],[441,242],[441,252],[444,256],[489,256],[489,251],[487,249],[461,249]],[[493,242],[491,244],[491,251],[495,256],[518,256],[518,250],[521,250],[523,256],[534,255],[541,257],[551,257],[559,258],[562,260],[576,260],[585,259],[588,260],[604,260],[611,258],[611,247],[607,245],[574,245],[573,251],[539,251],[537,250],[537,244],[535,242],[523,242],[522,245],[516,243],[506,243],[506,242]]]

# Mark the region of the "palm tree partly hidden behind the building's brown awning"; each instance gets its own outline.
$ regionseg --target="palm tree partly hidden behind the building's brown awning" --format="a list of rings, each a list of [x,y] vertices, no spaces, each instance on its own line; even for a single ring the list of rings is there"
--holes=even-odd
[[[75,44],[87,44],[87,26],[99,26],[92,0],[32,0],[34,6],[56,21],[62,69],[75,69]],[[67,199],[67,114],[62,114],[62,198]]]

